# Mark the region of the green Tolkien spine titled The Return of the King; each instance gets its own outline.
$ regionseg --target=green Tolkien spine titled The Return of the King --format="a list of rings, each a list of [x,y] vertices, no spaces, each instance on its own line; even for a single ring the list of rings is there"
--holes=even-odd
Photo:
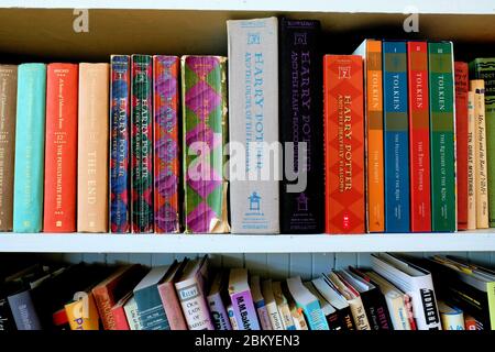
[[[451,42],[428,44],[431,230],[455,231],[454,76]]]

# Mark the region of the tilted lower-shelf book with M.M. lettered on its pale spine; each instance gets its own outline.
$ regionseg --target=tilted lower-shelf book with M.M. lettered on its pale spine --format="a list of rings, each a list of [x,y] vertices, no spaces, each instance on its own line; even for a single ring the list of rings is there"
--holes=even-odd
[[[261,330],[245,268],[230,271],[229,295],[239,330]]]

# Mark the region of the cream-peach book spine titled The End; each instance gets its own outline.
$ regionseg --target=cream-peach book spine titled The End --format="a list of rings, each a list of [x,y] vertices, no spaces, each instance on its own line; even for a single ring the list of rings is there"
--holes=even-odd
[[[109,81],[109,64],[79,64],[78,232],[108,232]]]

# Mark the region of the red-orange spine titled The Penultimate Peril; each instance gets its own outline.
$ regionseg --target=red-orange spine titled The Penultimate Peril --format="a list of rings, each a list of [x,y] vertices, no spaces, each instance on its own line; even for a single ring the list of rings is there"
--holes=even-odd
[[[45,232],[76,231],[78,66],[46,72]]]

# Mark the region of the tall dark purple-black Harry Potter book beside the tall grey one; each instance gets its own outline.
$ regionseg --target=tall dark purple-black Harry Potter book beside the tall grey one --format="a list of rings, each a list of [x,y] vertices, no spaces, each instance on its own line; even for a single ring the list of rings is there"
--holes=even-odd
[[[318,128],[322,124],[323,100],[319,38],[319,21],[280,20],[278,119],[284,169],[287,169],[279,194],[282,233],[323,232],[323,133]],[[301,189],[293,189],[298,188],[297,185],[301,185]]]

